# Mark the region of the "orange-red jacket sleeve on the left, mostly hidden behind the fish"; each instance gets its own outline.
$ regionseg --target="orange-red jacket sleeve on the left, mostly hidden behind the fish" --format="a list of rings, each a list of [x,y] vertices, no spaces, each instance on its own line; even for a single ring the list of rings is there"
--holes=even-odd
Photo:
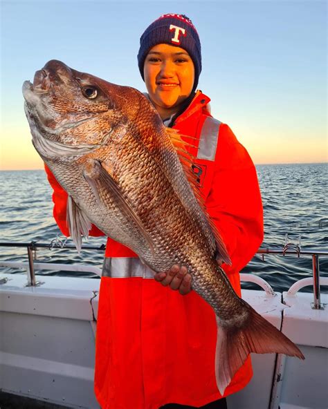
[[[60,231],[64,236],[69,237],[69,227],[66,222],[66,208],[67,208],[67,198],[68,194],[57,182],[55,176],[51,170],[44,164],[44,169],[46,170],[46,175],[48,182],[53,188],[53,217],[55,218]],[[89,231],[89,236],[104,236],[104,233],[95,225],[91,225],[91,230]]]

